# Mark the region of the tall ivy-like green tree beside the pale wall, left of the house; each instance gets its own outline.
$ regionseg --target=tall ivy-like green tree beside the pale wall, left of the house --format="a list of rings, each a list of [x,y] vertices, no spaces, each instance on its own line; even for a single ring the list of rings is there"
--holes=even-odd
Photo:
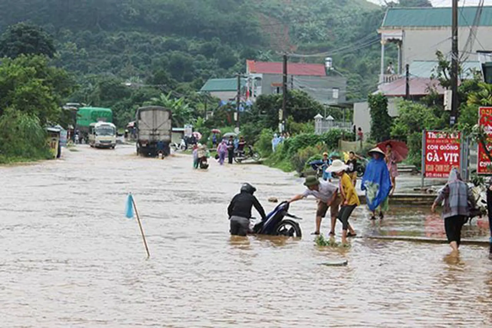
[[[371,117],[371,138],[376,142],[388,140],[392,123],[388,114],[388,98],[381,93],[369,94],[368,103]]]

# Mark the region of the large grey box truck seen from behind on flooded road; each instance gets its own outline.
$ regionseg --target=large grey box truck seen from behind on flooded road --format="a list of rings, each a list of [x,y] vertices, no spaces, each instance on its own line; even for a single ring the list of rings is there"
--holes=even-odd
[[[141,107],[137,110],[137,155],[168,156],[171,153],[172,112],[160,106]]]

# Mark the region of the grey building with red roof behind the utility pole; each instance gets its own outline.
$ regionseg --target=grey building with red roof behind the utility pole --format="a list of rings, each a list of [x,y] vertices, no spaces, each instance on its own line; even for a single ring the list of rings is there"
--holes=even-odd
[[[246,60],[247,89],[251,100],[261,94],[282,93],[283,63]],[[304,90],[324,104],[345,102],[347,79],[327,74],[324,64],[287,63],[287,88]]]

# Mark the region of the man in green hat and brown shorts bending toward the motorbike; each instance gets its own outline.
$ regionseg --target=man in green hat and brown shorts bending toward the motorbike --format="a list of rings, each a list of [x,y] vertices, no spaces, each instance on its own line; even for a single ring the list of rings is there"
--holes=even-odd
[[[307,177],[304,182],[306,190],[299,195],[292,197],[288,202],[292,203],[307,196],[314,196],[318,200],[318,208],[316,210],[316,230],[311,235],[319,235],[321,228],[321,220],[326,216],[328,208],[331,214],[331,230],[330,235],[335,235],[335,224],[338,215],[338,207],[340,199],[338,197],[338,188],[331,182],[319,181],[315,177]]]

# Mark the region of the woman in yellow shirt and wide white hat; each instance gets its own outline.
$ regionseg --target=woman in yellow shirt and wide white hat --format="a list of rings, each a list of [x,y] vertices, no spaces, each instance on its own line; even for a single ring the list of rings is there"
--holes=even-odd
[[[336,159],[333,161],[332,165],[326,169],[328,172],[334,172],[339,179],[340,186],[338,190],[340,191],[342,197],[342,207],[338,212],[338,220],[342,223],[343,233],[341,236],[341,242],[343,244],[347,243],[347,230],[352,228],[348,224],[348,218],[352,214],[352,211],[359,205],[361,202],[359,201],[359,196],[357,196],[357,192],[355,190],[354,185],[352,184],[352,180],[345,173],[345,170],[348,169],[348,166],[345,165],[341,160]],[[350,231],[350,236],[355,236],[355,232]]]

